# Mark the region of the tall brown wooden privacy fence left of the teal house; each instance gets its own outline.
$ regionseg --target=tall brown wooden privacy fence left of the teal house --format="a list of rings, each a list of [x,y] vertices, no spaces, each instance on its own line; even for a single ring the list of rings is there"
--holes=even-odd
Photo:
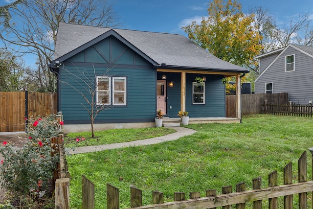
[[[25,131],[25,117],[57,112],[57,93],[0,92],[0,132]]]

